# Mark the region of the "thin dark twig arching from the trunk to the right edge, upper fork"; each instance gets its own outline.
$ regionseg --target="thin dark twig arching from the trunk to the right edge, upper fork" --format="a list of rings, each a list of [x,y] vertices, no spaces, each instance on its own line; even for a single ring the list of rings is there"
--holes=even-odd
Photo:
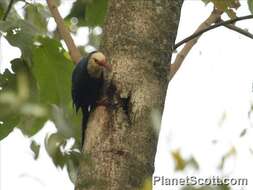
[[[253,18],[253,15],[247,15],[247,16],[242,16],[242,17],[237,17],[235,19],[231,19],[231,20],[227,20],[227,21],[224,21],[224,22],[220,22],[220,23],[217,23],[217,24],[214,24],[214,25],[211,25],[209,26],[208,28],[205,28],[199,32],[196,32],[194,34],[192,34],[191,36],[185,38],[184,40],[178,42],[175,46],[174,46],[174,50],[177,49],[179,46],[181,46],[182,44],[202,35],[203,33],[209,31],[209,30],[212,30],[212,29],[215,29],[217,27],[220,27],[220,26],[225,26],[225,25],[228,25],[228,24],[232,24],[232,23],[235,23],[237,21],[240,21],[240,20],[246,20],[246,19],[252,19]]]

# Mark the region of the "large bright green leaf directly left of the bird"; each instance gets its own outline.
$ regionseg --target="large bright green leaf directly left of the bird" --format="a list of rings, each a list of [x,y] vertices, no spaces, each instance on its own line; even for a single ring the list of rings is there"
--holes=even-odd
[[[65,58],[61,44],[40,37],[33,48],[32,73],[39,88],[40,101],[66,105],[70,102],[73,64]]]

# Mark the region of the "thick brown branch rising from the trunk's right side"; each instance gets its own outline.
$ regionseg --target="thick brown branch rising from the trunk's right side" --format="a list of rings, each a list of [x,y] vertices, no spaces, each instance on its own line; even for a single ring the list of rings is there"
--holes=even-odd
[[[197,28],[197,30],[195,31],[194,34],[198,34],[200,31],[204,31],[205,29],[207,29],[208,27],[210,27],[211,24],[217,22],[217,20],[220,18],[220,16],[222,15],[222,13],[223,13],[222,11],[214,9],[213,12],[211,13],[211,15],[203,23],[201,23],[199,25],[199,27]],[[170,80],[176,74],[176,72],[178,71],[178,69],[182,65],[185,57],[188,55],[188,53],[192,49],[192,47],[197,43],[200,35],[201,34],[199,34],[198,36],[192,38],[189,41],[186,41],[187,43],[185,44],[185,46],[183,47],[183,49],[177,54],[175,62],[170,65],[170,76],[169,76]]]

